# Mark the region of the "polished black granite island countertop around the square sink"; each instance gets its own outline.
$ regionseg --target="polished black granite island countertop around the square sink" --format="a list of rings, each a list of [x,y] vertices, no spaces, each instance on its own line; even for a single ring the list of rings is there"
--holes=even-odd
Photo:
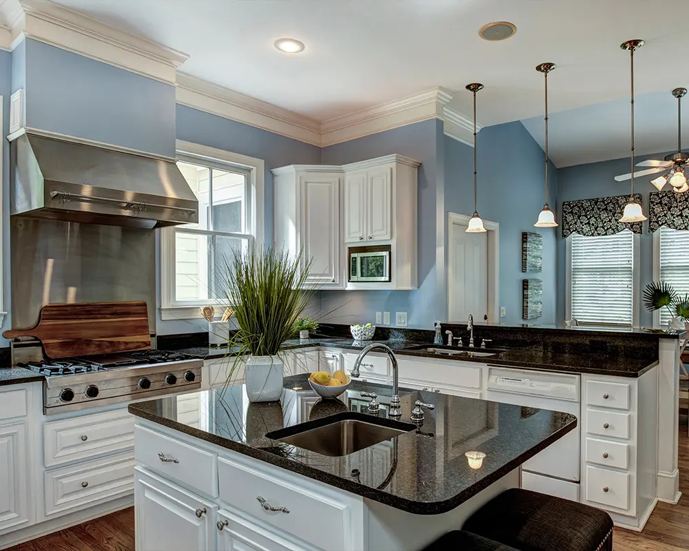
[[[400,391],[402,418],[408,421],[417,399],[435,404],[425,412],[419,430],[344,457],[330,457],[297,448],[266,435],[274,430],[328,415],[366,413],[361,391],[375,391],[380,417],[387,417],[390,388],[353,381],[336,400],[322,400],[311,391],[307,375],[285,378],[280,402],[246,404],[243,385],[200,391],[207,404],[207,428],[185,422],[175,397],[130,404],[130,413],[168,428],[243,453],[415,514],[452,510],[533,457],[577,425],[567,413],[512,404],[498,404],[427,393]],[[192,393],[193,394],[193,393]],[[189,397],[192,394],[187,394]],[[486,454],[481,468],[469,467],[466,452]]]

